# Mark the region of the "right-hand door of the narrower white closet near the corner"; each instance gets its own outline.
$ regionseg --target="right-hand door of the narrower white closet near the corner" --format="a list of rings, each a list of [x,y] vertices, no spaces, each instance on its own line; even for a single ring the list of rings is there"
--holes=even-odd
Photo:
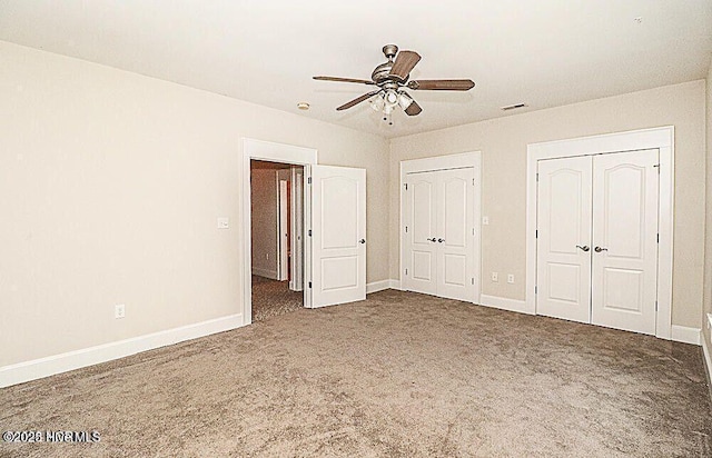
[[[472,302],[475,291],[474,169],[437,172],[437,295]]]

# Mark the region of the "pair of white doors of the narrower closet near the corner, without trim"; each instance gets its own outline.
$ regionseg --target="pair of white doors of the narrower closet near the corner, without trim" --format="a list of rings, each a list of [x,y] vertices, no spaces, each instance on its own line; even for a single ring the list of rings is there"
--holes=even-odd
[[[474,168],[407,175],[404,289],[472,302]]]

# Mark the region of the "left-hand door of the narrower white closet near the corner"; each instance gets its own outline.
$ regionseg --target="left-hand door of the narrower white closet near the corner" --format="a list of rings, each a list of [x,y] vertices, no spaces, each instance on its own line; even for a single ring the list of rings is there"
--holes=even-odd
[[[407,232],[405,250],[407,273],[404,287],[409,291],[435,295],[437,292],[436,253],[436,172],[408,176],[408,191],[405,195]]]

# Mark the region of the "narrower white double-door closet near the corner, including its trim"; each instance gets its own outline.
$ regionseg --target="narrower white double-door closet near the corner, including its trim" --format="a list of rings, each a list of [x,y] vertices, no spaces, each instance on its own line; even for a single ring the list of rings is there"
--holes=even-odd
[[[481,155],[400,162],[403,289],[479,302]]]

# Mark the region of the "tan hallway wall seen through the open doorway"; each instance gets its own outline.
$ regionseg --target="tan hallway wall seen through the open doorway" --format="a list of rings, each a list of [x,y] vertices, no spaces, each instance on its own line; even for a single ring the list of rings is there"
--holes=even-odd
[[[279,270],[277,170],[253,169],[250,177],[253,273],[276,279]]]

